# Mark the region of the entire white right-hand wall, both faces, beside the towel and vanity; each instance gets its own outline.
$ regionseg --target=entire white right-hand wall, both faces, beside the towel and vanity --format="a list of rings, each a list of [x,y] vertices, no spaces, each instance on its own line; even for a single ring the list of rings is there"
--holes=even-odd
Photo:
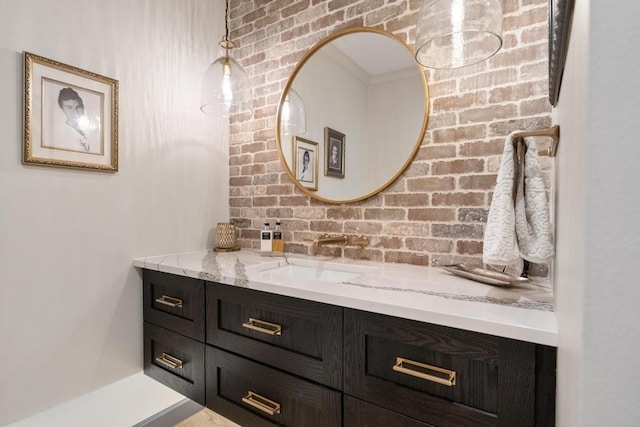
[[[640,4],[577,0],[556,117],[558,425],[640,423]]]

